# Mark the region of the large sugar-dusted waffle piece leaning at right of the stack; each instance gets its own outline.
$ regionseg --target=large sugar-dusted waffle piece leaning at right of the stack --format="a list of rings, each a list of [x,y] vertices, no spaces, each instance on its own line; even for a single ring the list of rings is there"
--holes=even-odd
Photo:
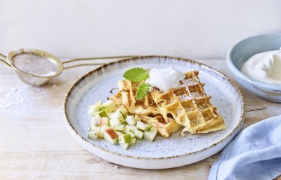
[[[173,117],[178,124],[185,126],[183,132],[197,134],[225,129],[223,118],[210,103],[211,96],[206,95],[198,74],[198,71],[186,72],[181,86],[166,92],[154,89],[152,98],[165,122]]]

